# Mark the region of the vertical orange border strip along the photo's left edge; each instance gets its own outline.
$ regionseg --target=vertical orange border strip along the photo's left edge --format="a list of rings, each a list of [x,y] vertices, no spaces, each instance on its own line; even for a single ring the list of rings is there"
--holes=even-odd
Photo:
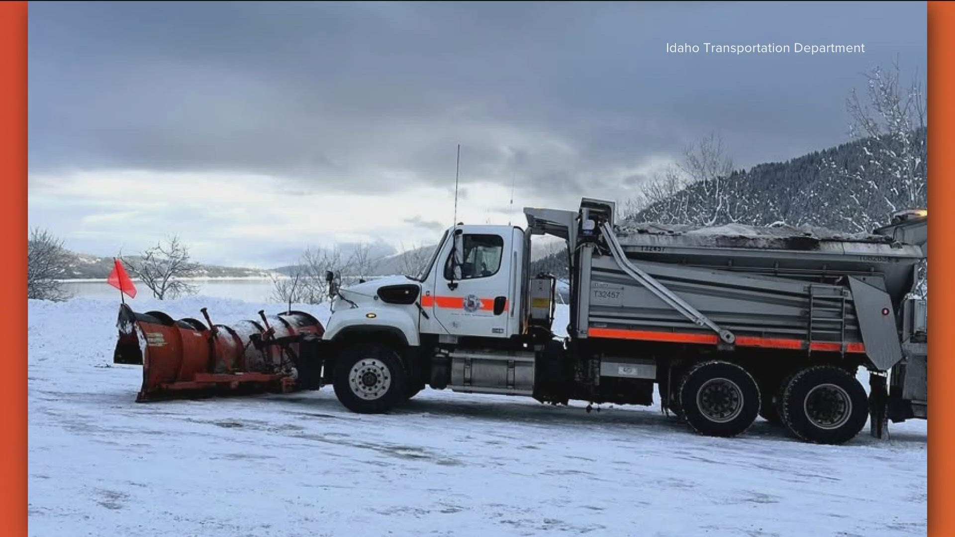
[[[0,4],[0,204],[7,236],[0,266],[0,322],[8,334],[0,390],[0,516],[7,535],[27,534],[27,3]]]

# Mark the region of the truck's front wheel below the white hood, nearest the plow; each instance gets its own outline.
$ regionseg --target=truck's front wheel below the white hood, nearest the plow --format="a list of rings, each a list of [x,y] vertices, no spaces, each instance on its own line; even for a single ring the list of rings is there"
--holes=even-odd
[[[388,412],[406,394],[401,358],[377,343],[350,345],[335,362],[335,396],[352,412]]]

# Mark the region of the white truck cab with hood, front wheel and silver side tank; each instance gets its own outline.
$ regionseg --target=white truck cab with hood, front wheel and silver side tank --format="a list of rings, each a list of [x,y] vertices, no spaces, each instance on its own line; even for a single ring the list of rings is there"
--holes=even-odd
[[[535,354],[523,341],[522,314],[529,243],[520,227],[459,225],[445,231],[420,274],[345,289],[329,275],[338,297],[322,338],[337,357],[323,376],[339,400],[375,413],[426,384],[532,395]],[[551,304],[553,285],[546,289]]]

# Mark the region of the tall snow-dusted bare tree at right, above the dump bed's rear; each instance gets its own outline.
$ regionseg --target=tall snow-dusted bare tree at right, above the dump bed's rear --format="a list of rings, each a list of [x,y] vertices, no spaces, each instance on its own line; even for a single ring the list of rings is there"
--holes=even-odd
[[[828,188],[846,199],[817,202],[851,229],[869,231],[894,211],[927,204],[925,93],[918,75],[903,86],[900,71],[898,63],[869,71],[865,91],[846,99],[850,136],[861,140],[865,159],[851,165],[826,159],[820,166]]]

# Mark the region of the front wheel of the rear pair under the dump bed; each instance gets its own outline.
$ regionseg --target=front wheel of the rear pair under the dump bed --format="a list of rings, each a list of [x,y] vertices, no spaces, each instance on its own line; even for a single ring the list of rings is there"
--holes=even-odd
[[[690,368],[677,391],[683,419],[698,433],[734,437],[759,414],[759,387],[736,364],[708,361]]]

